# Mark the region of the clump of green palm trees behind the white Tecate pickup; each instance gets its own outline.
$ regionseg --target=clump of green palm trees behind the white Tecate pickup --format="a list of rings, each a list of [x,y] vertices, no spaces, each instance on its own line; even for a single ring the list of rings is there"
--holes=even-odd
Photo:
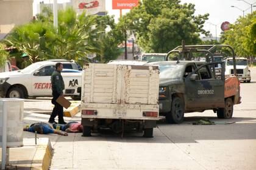
[[[58,31],[46,10],[38,19],[16,27],[5,42],[27,53],[32,63],[49,58],[86,60],[88,53],[100,52],[96,16],[77,16],[73,9],[60,10],[58,16]]]

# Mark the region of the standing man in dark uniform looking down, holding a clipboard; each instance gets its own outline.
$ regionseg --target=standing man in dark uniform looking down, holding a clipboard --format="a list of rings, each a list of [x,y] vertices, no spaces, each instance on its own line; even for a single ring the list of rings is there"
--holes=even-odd
[[[54,119],[58,115],[59,124],[66,124],[63,119],[63,106],[57,103],[57,98],[63,97],[63,90],[65,89],[64,81],[60,72],[62,72],[62,63],[55,64],[55,71],[51,76],[52,83],[52,104],[54,104],[54,109],[52,110],[51,117],[49,118],[49,123],[57,123]]]

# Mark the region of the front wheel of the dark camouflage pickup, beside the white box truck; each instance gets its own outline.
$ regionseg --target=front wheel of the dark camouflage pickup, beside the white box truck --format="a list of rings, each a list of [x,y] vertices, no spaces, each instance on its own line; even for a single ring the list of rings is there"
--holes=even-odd
[[[171,112],[167,113],[166,121],[168,123],[182,123],[184,119],[184,104],[181,98],[174,97],[171,102]]]

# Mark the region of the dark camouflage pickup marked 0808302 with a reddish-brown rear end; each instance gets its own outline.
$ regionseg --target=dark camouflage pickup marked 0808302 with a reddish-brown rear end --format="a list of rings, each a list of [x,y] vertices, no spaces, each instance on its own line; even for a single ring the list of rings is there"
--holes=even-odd
[[[185,51],[196,50],[187,48]],[[160,69],[160,115],[165,115],[168,123],[182,123],[184,113],[210,109],[217,113],[218,118],[231,118],[233,105],[240,103],[238,78],[225,78],[224,62],[182,61],[178,58],[150,64],[158,65]],[[222,66],[221,77],[215,74],[216,64]]]

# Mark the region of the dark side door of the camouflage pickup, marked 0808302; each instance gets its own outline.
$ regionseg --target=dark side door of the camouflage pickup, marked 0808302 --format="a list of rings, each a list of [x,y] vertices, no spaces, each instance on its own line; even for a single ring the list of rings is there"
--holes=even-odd
[[[209,65],[199,67],[185,78],[187,109],[224,107],[224,80],[216,79]]]

